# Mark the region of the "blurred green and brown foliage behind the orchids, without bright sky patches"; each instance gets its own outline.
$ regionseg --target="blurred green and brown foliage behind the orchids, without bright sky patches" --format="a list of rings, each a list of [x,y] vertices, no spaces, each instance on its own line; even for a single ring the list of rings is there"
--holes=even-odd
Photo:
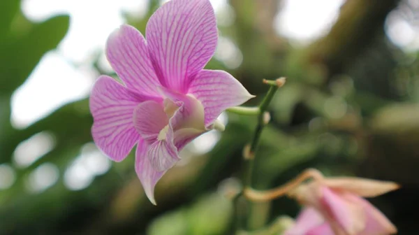
[[[254,184],[267,189],[307,167],[327,175],[357,175],[396,180],[403,190],[374,200],[395,221],[400,234],[416,234],[419,205],[418,52],[403,52],[388,41],[385,18],[408,1],[347,0],[330,33],[307,47],[295,48],[274,31],[280,1],[230,0],[235,22],[220,27],[243,55],[237,69],[212,59],[258,97],[260,81],[287,76],[272,102],[272,122],[262,136]],[[399,4],[399,5],[398,5]],[[159,6],[151,1],[142,19],[128,22],[145,31]],[[0,1],[0,164],[13,165],[22,141],[49,131],[56,145],[0,191],[0,234],[230,234],[232,203],[219,194],[219,183],[242,176],[241,153],[256,124],[252,117],[230,114],[221,140],[211,152],[172,169],[156,189],[159,206],[149,204],[133,168],[133,156],[113,164],[84,190],[66,189],[62,173],[91,142],[88,100],[66,104],[25,129],[10,124],[10,97],[45,52],[66,35],[68,15],[41,23],[27,20],[20,1]],[[92,13],[94,15],[95,13]],[[98,63],[92,64],[102,73]],[[45,162],[55,164],[60,179],[45,192],[28,192],[25,180]],[[252,227],[277,225],[279,216],[295,215],[294,201],[279,199],[254,205]],[[274,226],[273,226],[274,227]],[[277,233],[279,230],[273,233]]]

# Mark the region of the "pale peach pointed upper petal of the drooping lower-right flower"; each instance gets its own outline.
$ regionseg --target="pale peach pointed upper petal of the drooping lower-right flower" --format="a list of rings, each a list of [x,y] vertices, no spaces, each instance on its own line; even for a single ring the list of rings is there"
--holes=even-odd
[[[324,185],[334,190],[345,190],[360,197],[377,197],[399,188],[399,185],[394,182],[355,177],[326,178]]]

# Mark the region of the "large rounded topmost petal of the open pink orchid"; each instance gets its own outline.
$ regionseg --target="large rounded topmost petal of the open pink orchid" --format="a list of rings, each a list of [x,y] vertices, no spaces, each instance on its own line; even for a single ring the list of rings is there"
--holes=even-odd
[[[191,80],[214,55],[218,40],[209,0],[172,0],[149,18],[149,53],[164,87],[186,92]]]

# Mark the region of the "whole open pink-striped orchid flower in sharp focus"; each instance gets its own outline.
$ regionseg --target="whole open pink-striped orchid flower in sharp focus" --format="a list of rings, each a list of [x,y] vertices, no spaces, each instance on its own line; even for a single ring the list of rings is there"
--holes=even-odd
[[[218,40],[209,0],[172,0],[149,18],[146,39],[123,25],[106,56],[122,80],[96,81],[90,97],[94,142],[115,162],[132,148],[135,171],[153,204],[154,186],[179,161],[179,151],[216,118],[253,97],[229,73],[203,69]]]

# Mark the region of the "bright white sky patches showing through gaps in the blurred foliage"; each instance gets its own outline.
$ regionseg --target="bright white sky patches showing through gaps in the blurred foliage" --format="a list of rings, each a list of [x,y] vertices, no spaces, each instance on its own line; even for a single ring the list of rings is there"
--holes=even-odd
[[[233,23],[234,12],[226,0],[211,2],[219,24]],[[284,0],[284,6],[275,24],[277,32],[281,36],[291,38],[298,45],[305,45],[328,32],[337,19],[339,7],[343,2],[344,0]],[[13,94],[13,126],[27,127],[63,104],[87,97],[98,74],[84,64],[91,64],[95,53],[103,52],[109,34],[124,23],[122,12],[142,17],[147,4],[147,0],[23,0],[22,10],[30,20],[41,22],[53,15],[68,13],[71,15],[71,25],[57,50],[48,52],[27,81]],[[396,45],[408,49],[419,48],[418,30],[394,16],[390,17],[388,22],[388,35]],[[228,38],[220,38],[216,57],[230,68],[239,66],[242,61],[240,50]],[[109,66],[104,57],[102,62]],[[224,120],[226,122],[225,116]],[[22,143],[26,147],[17,148],[15,165],[28,166],[40,157],[45,149],[53,148],[53,138],[48,135],[41,133],[34,136],[34,139],[38,140],[33,141],[36,144],[31,144],[30,141]],[[218,138],[219,135],[214,131],[205,134],[193,142],[191,151],[206,152]],[[32,151],[25,152],[24,149]],[[82,150],[82,155],[75,159],[64,174],[67,187],[80,190],[87,187],[94,176],[109,169],[107,159],[98,157],[97,150],[92,149],[94,145],[87,144]],[[57,168],[52,164],[40,166],[29,177],[29,190],[45,190],[55,183],[58,174]],[[0,188],[10,186],[13,177],[13,169],[10,166],[0,165],[0,178],[3,178],[3,181],[0,180]]]

